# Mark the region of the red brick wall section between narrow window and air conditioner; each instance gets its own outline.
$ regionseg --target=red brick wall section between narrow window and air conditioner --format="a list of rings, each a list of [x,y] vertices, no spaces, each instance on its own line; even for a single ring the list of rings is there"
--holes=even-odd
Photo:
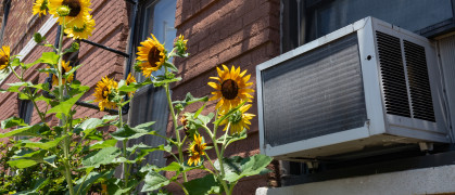
[[[173,99],[181,100],[190,91],[193,95],[208,95],[208,77],[217,76],[216,67],[225,64],[248,69],[255,82],[255,66],[279,54],[279,0],[178,0],[177,35],[188,41],[188,58],[176,60],[182,80],[173,87]],[[253,86],[255,88],[255,84]],[[256,96],[255,94],[253,94]],[[257,115],[256,101],[249,112]],[[192,105],[191,112],[201,105]],[[207,105],[213,112],[215,102]],[[205,113],[206,114],[206,113]],[[170,126],[170,125],[169,125]],[[173,135],[168,128],[168,135]],[[222,134],[222,133],[218,133]],[[260,153],[257,117],[252,120],[248,139],[228,147],[226,155],[249,156]],[[210,154],[215,158],[215,154]],[[172,159],[169,158],[168,161]],[[269,166],[277,170],[276,164]],[[189,178],[204,173],[192,171]],[[233,194],[254,194],[258,186],[276,184],[276,174],[247,178]],[[178,186],[169,187],[181,193]]]

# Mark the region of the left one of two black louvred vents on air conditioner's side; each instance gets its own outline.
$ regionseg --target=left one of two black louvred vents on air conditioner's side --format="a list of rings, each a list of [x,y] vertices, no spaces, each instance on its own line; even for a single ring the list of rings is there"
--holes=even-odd
[[[410,117],[401,40],[376,31],[387,114]],[[430,98],[431,99],[431,98]]]

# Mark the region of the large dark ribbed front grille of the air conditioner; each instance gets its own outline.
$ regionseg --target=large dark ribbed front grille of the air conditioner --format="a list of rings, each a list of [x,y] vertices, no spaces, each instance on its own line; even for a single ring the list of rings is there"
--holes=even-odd
[[[357,36],[265,69],[265,143],[271,146],[365,126],[367,120]]]

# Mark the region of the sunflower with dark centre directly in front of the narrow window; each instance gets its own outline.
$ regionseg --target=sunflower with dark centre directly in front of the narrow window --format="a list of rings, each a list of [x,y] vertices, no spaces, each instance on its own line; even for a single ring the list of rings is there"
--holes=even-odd
[[[142,75],[150,77],[152,72],[156,72],[166,61],[166,50],[164,46],[156,40],[155,36],[152,35],[152,38],[148,38],[146,41],[141,42],[143,47],[138,47],[139,56],[138,61],[142,61],[139,64]]]

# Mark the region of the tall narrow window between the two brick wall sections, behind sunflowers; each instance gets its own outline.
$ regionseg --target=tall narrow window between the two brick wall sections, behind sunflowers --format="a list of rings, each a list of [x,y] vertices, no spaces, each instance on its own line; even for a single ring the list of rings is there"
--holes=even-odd
[[[176,29],[174,28],[176,0],[148,0],[140,5],[139,38],[136,46],[153,34],[160,42],[165,42],[165,48],[170,51]],[[161,74],[161,73],[154,73]],[[146,78],[141,73],[135,73],[138,81]],[[156,121],[152,127],[161,134],[166,134],[168,107],[166,92],[163,88],[153,88],[152,84],[139,89],[131,100],[130,125],[137,126],[147,121]],[[157,136],[144,135],[136,140],[137,143],[144,143],[157,146],[165,141]],[[163,152],[154,152],[146,157],[146,161],[157,166],[165,166],[166,161]]]

